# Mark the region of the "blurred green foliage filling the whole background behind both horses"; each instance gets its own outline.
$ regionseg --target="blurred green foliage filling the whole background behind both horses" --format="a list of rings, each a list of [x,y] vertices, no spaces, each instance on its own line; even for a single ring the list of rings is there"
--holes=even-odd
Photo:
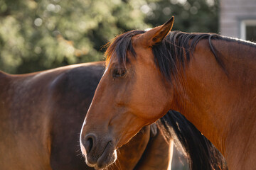
[[[218,33],[218,0],[0,0],[0,69],[12,74],[103,60],[102,45],[159,26]]]

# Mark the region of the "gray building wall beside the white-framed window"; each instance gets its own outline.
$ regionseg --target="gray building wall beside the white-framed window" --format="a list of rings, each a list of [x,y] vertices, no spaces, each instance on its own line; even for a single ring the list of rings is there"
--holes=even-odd
[[[256,20],[256,0],[220,0],[220,34],[241,38],[240,23]]]

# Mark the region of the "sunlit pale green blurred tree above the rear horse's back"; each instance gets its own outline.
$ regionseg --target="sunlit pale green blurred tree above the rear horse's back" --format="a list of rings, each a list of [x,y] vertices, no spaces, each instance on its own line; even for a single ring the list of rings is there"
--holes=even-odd
[[[0,2],[0,69],[34,72],[102,59],[100,47],[122,30],[148,27],[136,1]]]

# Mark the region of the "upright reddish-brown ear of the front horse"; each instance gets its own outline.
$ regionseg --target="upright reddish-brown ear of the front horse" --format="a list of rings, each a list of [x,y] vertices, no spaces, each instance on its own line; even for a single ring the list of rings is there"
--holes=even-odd
[[[161,42],[166,37],[166,35],[169,34],[173,25],[174,16],[172,16],[169,21],[164,23],[164,25],[146,31],[146,33],[142,34],[138,38],[138,42],[141,42],[145,47],[152,47]]]

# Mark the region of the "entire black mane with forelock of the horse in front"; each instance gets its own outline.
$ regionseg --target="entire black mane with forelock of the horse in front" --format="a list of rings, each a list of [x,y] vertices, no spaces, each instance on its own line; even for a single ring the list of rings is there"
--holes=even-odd
[[[127,57],[127,52],[136,57],[134,52],[134,47],[132,47],[132,36],[145,33],[144,30],[132,30],[122,35],[117,36],[112,41],[105,52],[105,57],[107,58],[106,64],[110,62],[112,55],[115,53],[117,61],[120,67],[125,67],[129,63],[129,58]],[[169,35],[164,38],[158,45],[152,47],[152,52],[154,53],[154,59],[157,67],[159,67],[161,74],[164,77],[172,81],[179,81],[177,73],[182,72],[186,64],[191,60],[191,55],[197,43],[200,40],[208,40],[208,46],[215,60],[218,62],[220,67],[223,69],[225,74],[228,72],[225,70],[225,65],[222,60],[220,52],[215,50],[211,40],[225,40],[231,42],[238,42],[242,45],[249,45],[250,47],[256,47],[256,44],[249,41],[238,40],[235,38],[223,37],[214,33],[183,33],[180,31],[171,31]]]

